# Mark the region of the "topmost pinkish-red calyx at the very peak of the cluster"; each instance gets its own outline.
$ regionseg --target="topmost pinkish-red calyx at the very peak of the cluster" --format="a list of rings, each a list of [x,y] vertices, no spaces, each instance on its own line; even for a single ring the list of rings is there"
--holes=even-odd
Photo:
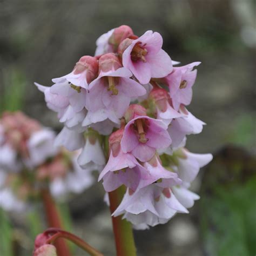
[[[113,50],[116,51],[118,45],[127,37],[133,35],[133,31],[130,26],[122,25],[114,29],[111,37],[109,38],[109,44],[113,46]]]

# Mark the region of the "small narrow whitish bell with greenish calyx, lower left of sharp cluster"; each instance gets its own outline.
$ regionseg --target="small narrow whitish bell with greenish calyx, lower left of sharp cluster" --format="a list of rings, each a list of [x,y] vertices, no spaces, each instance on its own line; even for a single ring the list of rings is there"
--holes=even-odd
[[[85,170],[102,171],[105,165],[105,157],[99,142],[99,134],[89,129],[84,133],[84,137],[85,145],[78,157],[78,164]]]

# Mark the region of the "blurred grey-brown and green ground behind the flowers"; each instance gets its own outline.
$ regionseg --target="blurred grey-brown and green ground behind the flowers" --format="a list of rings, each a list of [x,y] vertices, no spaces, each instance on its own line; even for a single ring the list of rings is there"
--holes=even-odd
[[[33,82],[52,85],[79,57],[94,55],[96,39],[119,25],[136,35],[160,32],[173,60],[202,62],[188,110],[207,125],[188,136],[187,148],[211,152],[214,160],[193,184],[201,199],[189,215],[135,232],[138,255],[255,255],[255,14],[254,0],[1,1],[0,112],[22,110],[58,132],[62,125]],[[103,196],[96,184],[63,212],[70,213],[64,214],[69,230],[114,255]],[[1,256],[9,256],[6,237],[15,240],[15,256],[31,254],[44,226],[32,211],[1,213]]]

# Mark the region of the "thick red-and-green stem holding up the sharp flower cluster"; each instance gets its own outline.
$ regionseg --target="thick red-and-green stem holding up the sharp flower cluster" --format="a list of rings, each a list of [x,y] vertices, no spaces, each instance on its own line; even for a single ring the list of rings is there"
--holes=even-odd
[[[125,193],[125,187],[121,186],[112,192],[109,192],[110,211],[116,210]],[[113,217],[112,225],[114,239],[116,241],[117,256],[136,256],[136,247],[132,233],[131,224],[122,219],[122,216]]]

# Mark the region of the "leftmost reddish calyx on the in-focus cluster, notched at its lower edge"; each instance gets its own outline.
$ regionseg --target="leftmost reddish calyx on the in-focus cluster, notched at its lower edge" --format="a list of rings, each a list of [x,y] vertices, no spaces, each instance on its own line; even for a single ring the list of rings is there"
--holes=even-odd
[[[90,83],[98,75],[98,60],[95,57],[83,56],[76,63],[73,73],[80,74],[86,70],[86,80]]]

